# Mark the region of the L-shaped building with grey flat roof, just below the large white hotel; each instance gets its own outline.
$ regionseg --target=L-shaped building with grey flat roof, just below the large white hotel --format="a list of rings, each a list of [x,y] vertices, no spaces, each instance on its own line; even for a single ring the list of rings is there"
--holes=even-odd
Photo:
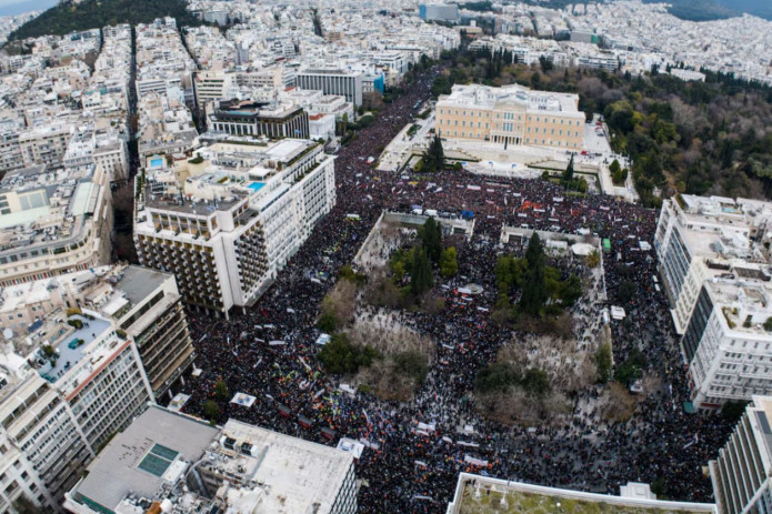
[[[195,359],[181,299],[170,273],[101,266],[3,289],[0,330],[14,337],[40,333],[38,339],[50,339],[57,335],[50,321],[68,309],[99,312],[134,341],[153,395],[161,400]]]

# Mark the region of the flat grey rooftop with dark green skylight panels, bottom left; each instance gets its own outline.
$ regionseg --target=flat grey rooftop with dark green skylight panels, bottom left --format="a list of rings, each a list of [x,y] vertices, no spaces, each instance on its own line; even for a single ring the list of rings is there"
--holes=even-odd
[[[217,437],[219,429],[150,406],[116,435],[89,466],[73,496],[114,511],[130,493],[152,498],[161,483],[182,475]]]

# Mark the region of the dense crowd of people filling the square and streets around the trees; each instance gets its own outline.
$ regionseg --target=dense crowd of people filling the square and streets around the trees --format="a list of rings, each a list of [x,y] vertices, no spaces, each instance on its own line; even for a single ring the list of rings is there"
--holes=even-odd
[[[411,122],[431,81],[432,73],[417,80],[341,149],[337,205],[253,309],[228,321],[189,314],[202,373],[187,381],[182,392],[191,399],[184,411],[204,416],[203,405],[218,401],[221,422],[234,417],[325,444],[342,436],[361,441],[367,447],[357,475],[363,478],[359,510],[365,513],[444,512],[461,471],[613,494],[628,481],[659,480],[672,498],[710,501],[702,466],[725,442],[729,426],[719,416],[683,410],[689,390],[678,340],[665,299],[654,289],[655,255],[641,244],[653,243],[656,212],[609,196],[569,195],[544,180],[463,170],[420,178],[377,171],[368,158]],[[442,215],[465,211],[474,221],[473,235],[459,248],[459,276],[435,285],[445,299],[442,313],[404,314],[434,342],[432,369],[407,403],[341,391],[340,377],[325,374],[315,359],[319,304],[384,210],[417,208]],[[485,420],[469,401],[477,371],[513,337],[490,318],[502,225],[589,231],[610,240],[604,281],[594,288],[610,304],[622,282],[636,288],[626,319],[611,322],[614,360],[623,362],[638,347],[662,377],[662,387],[639,404],[632,420],[610,423],[577,410],[564,425],[529,429]],[[485,292],[470,305],[454,290],[472,282]],[[574,309],[583,309],[581,301]],[[218,400],[219,381],[230,395],[255,396],[254,405]],[[579,405],[598,394],[590,386],[573,400]]]

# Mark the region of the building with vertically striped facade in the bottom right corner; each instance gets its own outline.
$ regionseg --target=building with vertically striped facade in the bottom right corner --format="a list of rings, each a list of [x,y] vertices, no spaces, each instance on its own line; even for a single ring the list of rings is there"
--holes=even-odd
[[[721,514],[772,512],[772,396],[753,396],[719,457],[710,462]]]

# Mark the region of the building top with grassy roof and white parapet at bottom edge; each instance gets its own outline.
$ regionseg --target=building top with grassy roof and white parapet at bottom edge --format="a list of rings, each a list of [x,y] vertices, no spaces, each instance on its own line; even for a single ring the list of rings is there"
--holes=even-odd
[[[718,514],[709,503],[671,502],[658,500],[648,484],[628,483],[620,495],[584,493],[545,487],[490,476],[461,473],[453,501],[447,514],[498,512],[635,512],[646,514]],[[573,511],[568,511],[571,505]],[[739,511],[735,511],[739,512]]]

